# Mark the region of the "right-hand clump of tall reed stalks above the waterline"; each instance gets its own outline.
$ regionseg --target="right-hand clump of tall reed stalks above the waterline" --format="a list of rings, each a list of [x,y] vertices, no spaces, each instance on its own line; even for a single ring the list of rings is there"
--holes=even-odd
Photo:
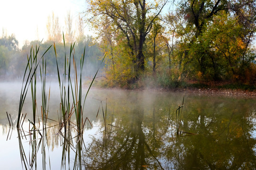
[[[75,50],[74,50],[75,43],[70,44],[70,52],[69,52],[69,56],[67,57],[64,34],[63,34],[63,40],[64,40],[64,50],[65,50],[65,54],[64,54],[65,61],[64,61],[64,74],[63,74],[62,79],[61,79],[59,64],[58,64],[58,60],[57,60],[56,47],[55,47],[55,43],[54,43],[55,59],[56,59],[57,73],[58,73],[58,82],[59,82],[60,95],[61,95],[61,105],[60,105],[60,109],[61,109],[60,124],[61,124],[61,126],[60,126],[60,128],[64,127],[64,132],[66,132],[66,130],[67,130],[66,123],[67,122],[70,123],[71,115],[74,112],[75,118],[76,118],[76,127],[77,127],[78,136],[81,136],[85,122],[86,122],[86,120],[89,120],[88,118],[83,119],[83,117],[82,117],[85,99],[88,95],[91,85],[92,85],[100,68],[97,70],[96,74],[94,75],[85,97],[82,98],[82,82],[83,82],[82,81],[82,71],[83,71],[82,69],[83,69],[84,59],[85,59],[85,47],[83,50],[83,54],[80,58],[80,70],[78,72],[76,60],[74,57],[75,56]],[[103,60],[105,59],[105,56],[102,59],[101,64],[102,64]],[[74,71],[73,74],[71,74],[71,62],[72,61],[73,61],[73,71]],[[74,76],[74,79],[72,79],[71,75]],[[67,85],[67,88],[66,88],[66,85]],[[72,94],[72,96],[70,96],[71,94]],[[70,97],[72,97],[73,101],[70,101]]]

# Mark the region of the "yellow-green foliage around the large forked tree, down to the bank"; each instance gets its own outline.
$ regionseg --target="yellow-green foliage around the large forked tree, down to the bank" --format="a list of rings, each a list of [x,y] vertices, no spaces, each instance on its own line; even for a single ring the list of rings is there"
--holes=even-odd
[[[152,32],[153,23],[160,17],[167,2],[168,0],[88,1],[87,13],[92,16],[89,22],[98,31],[105,46],[103,49],[109,50],[113,69],[111,74],[114,74],[112,77],[118,85],[123,86],[124,80],[129,84],[130,78],[138,79],[145,71],[144,46],[147,35]],[[120,56],[124,58],[119,59]],[[132,63],[129,65],[133,68],[127,69],[127,62],[130,61]]]

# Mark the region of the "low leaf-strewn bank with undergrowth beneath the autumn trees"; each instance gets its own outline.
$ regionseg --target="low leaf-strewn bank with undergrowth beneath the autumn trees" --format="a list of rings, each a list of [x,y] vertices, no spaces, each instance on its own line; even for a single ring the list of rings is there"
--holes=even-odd
[[[89,82],[89,81],[88,81]],[[104,79],[95,79],[94,80],[94,88],[102,88],[102,89],[120,89],[120,90],[154,90],[154,91],[172,91],[172,92],[185,92],[185,93],[205,93],[205,94],[223,94],[230,96],[253,96],[256,97],[256,85],[245,85],[238,84],[227,81],[186,81],[180,83],[180,85],[172,86],[172,87],[163,87],[163,86],[146,86],[141,85],[141,82],[137,82],[135,84],[130,84],[126,87],[120,86],[107,86],[106,81]],[[87,86],[85,83],[84,86]]]

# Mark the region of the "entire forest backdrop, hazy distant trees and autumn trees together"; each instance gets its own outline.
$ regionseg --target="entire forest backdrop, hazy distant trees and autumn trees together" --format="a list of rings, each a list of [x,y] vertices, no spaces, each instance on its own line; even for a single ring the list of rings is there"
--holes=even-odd
[[[79,59],[84,46],[85,70],[92,76],[101,59],[101,85],[172,88],[186,82],[218,81],[256,85],[255,0],[87,0],[74,34],[72,16],[65,30],[52,14],[46,41],[27,42],[22,49],[14,35],[0,38],[0,77],[19,77],[31,46],[42,52],[55,42],[64,57],[64,43],[75,42]],[[84,35],[83,25],[95,35]],[[79,29],[80,28],[80,29]],[[75,37],[76,35],[76,37]],[[53,49],[46,53],[47,73],[55,75]]]

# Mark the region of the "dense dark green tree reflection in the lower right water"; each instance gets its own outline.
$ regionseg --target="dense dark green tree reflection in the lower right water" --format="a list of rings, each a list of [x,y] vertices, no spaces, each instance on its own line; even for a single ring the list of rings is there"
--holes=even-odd
[[[210,98],[208,100],[211,100]],[[238,170],[256,167],[255,122],[246,101],[224,100],[188,103],[184,131],[198,134],[179,137],[175,169]],[[214,108],[214,109],[212,109]],[[229,108],[229,109],[227,109]],[[167,155],[171,159],[172,155]]]

